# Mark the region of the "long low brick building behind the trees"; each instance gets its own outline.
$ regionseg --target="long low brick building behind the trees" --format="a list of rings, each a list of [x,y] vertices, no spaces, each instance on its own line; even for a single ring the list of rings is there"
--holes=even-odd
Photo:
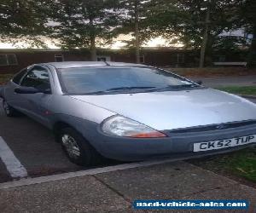
[[[131,50],[99,49],[97,60],[135,63]],[[198,56],[182,49],[142,49],[141,63],[150,66],[196,66]],[[87,49],[0,49],[0,73],[15,73],[36,63],[90,60]]]

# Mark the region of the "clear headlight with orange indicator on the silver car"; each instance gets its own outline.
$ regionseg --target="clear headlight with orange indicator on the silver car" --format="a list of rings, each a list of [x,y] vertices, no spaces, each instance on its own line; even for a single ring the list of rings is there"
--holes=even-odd
[[[165,134],[154,130],[137,121],[122,116],[107,118],[102,123],[102,131],[108,135],[135,137],[135,138],[155,138],[166,137]]]

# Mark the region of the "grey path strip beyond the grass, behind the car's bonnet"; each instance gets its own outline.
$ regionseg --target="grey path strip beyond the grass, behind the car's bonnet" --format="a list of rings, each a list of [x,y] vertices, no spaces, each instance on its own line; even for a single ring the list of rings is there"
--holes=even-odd
[[[256,86],[256,75],[238,77],[190,78],[192,81],[201,80],[207,87],[219,86]]]

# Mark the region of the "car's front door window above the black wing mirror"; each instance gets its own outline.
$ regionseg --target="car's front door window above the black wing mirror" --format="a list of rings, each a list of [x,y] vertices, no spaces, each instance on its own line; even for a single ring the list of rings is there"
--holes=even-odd
[[[43,67],[35,66],[27,72],[20,85],[43,90],[50,89],[49,73]]]

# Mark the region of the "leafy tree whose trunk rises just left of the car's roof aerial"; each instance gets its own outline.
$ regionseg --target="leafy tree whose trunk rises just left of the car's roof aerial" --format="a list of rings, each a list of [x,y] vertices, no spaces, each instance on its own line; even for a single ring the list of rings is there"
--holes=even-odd
[[[96,47],[114,37],[118,24],[115,0],[56,0],[53,26],[62,48],[90,48],[91,60],[96,60]]]

